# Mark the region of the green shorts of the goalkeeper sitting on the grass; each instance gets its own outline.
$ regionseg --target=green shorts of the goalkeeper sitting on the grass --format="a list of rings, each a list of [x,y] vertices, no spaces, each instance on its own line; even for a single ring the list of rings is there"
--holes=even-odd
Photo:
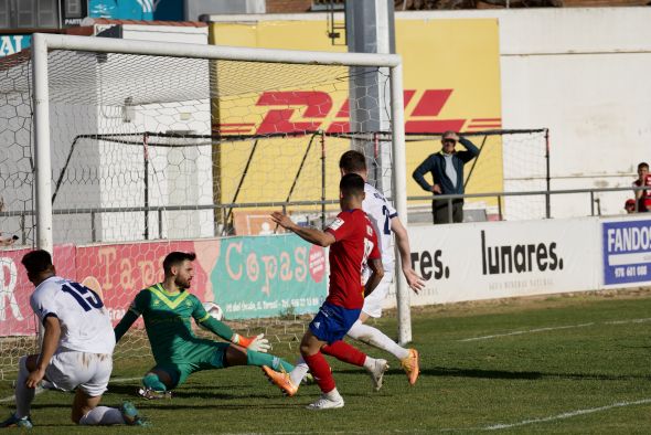
[[[207,341],[207,340],[206,340]],[[172,380],[171,389],[183,384],[189,375],[203,370],[224,369],[226,349],[231,343],[207,341],[196,343],[183,361],[161,361],[152,370],[168,373]]]

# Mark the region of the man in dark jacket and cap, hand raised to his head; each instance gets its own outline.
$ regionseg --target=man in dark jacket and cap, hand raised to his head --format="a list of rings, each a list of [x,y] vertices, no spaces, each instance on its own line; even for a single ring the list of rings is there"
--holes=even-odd
[[[457,151],[457,142],[466,150]],[[442,148],[439,152],[430,155],[414,171],[414,180],[427,191],[437,194],[463,193],[463,165],[479,156],[479,149],[468,139],[459,137],[455,131],[446,131],[441,136]],[[425,174],[431,173],[434,184],[425,180]],[[449,223],[448,200],[431,202],[434,223]],[[452,200],[452,222],[463,222],[463,199]]]

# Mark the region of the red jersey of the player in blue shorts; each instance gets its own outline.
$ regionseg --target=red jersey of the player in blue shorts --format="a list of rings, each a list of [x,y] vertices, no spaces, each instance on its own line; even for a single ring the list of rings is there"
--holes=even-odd
[[[364,305],[362,270],[367,259],[380,258],[377,235],[362,209],[342,211],[327,229],[337,242],[330,245],[328,303],[348,309]]]

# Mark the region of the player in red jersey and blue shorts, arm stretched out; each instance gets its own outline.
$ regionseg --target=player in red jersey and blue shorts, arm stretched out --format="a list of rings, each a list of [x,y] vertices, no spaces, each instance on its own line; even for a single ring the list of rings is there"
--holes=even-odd
[[[271,214],[274,222],[301,238],[319,246],[330,246],[328,297],[310,322],[300,343],[301,357],[322,392],[321,397],[308,406],[309,410],[343,406],[343,399],[337,391],[330,365],[323,353],[364,367],[370,372],[376,390],[382,386],[382,378],[388,369],[386,360],[367,357],[342,341],[360,317],[364,296],[370,295],[382,280],[384,269],[373,224],[362,210],[365,197],[364,179],[356,173],[345,174],[339,183],[339,190],[341,213],[326,231],[299,226],[280,212]],[[371,268],[371,277],[365,286],[362,284],[364,264]],[[305,367],[305,364],[298,365]],[[290,373],[279,373],[268,368],[263,370],[269,380],[287,395],[296,394],[300,380],[305,375],[300,367]]]

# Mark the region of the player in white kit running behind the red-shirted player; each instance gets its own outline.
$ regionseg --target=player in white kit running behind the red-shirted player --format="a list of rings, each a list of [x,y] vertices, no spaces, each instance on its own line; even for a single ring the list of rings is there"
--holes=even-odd
[[[344,152],[339,160],[339,168],[342,176],[357,173],[364,181],[367,180],[366,158],[359,151],[351,150]],[[388,294],[395,270],[394,234],[407,285],[415,293],[418,293],[425,286],[425,283],[412,267],[409,236],[398,219],[396,210],[382,193],[367,182],[365,183],[364,190],[366,198],[362,203],[362,209],[366,212],[371,222],[373,222],[375,232],[377,233],[384,278],[375,287],[375,290],[364,299],[364,307],[362,308],[360,319],[353,323],[348,331],[348,336],[395,356],[401,360],[402,367],[407,373],[407,379],[413,385],[416,383],[419,373],[418,351],[416,349],[405,349],[377,328],[364,325],[369,317],[377,318],[382,316],[382,305]]]

